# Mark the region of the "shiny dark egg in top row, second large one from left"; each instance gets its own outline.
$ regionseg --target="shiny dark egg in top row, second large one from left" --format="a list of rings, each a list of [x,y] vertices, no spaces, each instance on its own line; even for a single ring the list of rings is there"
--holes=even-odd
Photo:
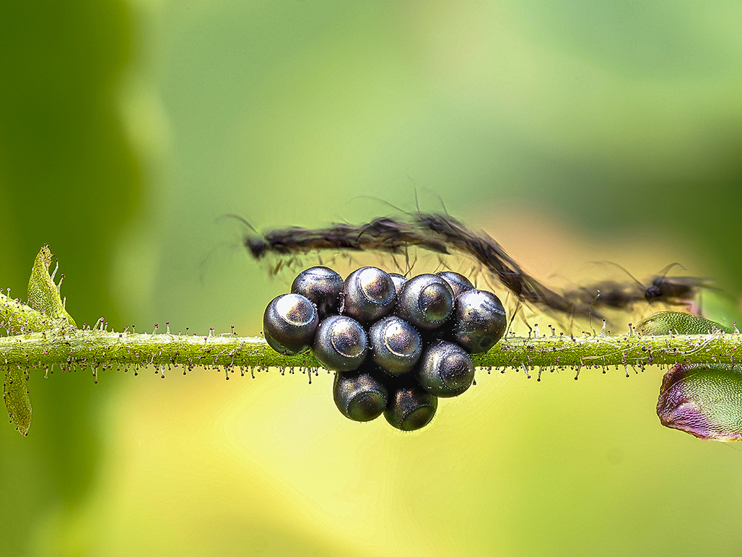
[[[343,313],[369,323],[389,315],[396,303],[394,282],[377,267],[361,267],[345,279]]]

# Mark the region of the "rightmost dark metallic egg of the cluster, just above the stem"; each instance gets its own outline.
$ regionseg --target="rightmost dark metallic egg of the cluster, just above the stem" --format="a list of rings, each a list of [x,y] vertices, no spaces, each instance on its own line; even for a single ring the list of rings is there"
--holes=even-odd
[[[499,298],[485,290],[468,290],[456,298],[453,338],[469,354],[486,352],[502,335],[508,319]]]

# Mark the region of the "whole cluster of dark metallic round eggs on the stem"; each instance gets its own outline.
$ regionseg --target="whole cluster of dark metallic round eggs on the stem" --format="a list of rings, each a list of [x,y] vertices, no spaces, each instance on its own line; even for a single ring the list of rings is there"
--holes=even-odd
[[[471,354],[505,333],[505,309],[459,273],[409,280],[361,267],[345,280],[327,267],[303,270],[290,294],[273,299],[263,334],[280,354],[312,348],[336,371],[335,404],[365,422],[382,413],[397,429],[430,423],[438,397],[456,397],[474,380]]]

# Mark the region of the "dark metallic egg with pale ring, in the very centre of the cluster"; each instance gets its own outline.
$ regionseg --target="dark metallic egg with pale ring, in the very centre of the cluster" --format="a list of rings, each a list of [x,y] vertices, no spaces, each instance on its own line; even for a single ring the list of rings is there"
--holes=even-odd
[[[422,350],[418,332],[398,316],[387,316],[371,325],[369,344],[373,361],[392,375],[412,370]]]

